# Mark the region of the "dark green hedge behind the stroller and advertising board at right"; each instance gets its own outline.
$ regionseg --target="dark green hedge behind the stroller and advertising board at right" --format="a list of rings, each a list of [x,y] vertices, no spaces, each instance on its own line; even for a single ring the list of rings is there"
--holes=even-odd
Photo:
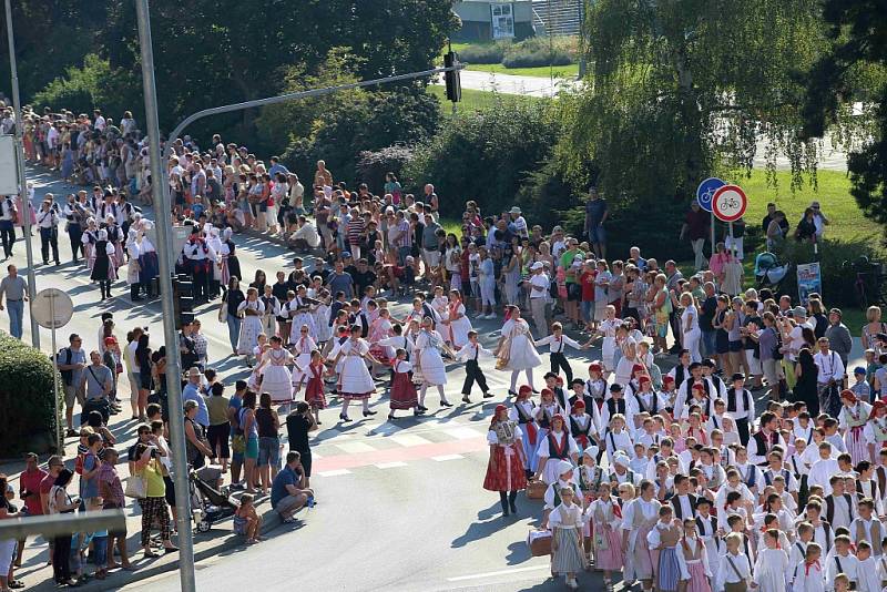
[[[877,255],[871,248],[871,244],[864,239],[854,241],[829,241],[828,238],[819,243],[818,259],[813,252],[809,243],[798,243],[794,238],[788,238],[777,249],[776,255],[781,263],[791,262],[792,271],[786,276],[781,286],[781,290],[797,297],[797,273],[795,265],[804,263],[819,262],[819,273],[823,279],[823,299],[827,306],[858,306],[856,290],[856,271],[853,266],[844,266],[844,262],[855,262],[861,256],[876,259]]]

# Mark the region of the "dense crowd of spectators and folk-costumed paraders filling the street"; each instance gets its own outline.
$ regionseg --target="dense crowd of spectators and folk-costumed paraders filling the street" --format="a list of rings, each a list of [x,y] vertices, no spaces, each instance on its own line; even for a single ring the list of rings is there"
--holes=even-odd
[[[132,205],[150,204],[151,185],[132,116],[119,125],[98,111],[29,118],[29,157],[94,185],[70,195],[62,211],[51,197],[41,204],[55,212],[47,224],[65,220],[74,257],[82,253],[103,298],[124,265],[133,300],[155,295],[152,224]],[[499,493],[503,516],[518,513],[520,490],[542,497],[552,574],[568,586],[591,564],[610,589],[619,578],[664,592],[874,592],[887,583],[887,327],[879,309],[863,328],[867,365],[849,368],[853,341],[839,309],[818,295],[799,304],[771,289],[744,290],[741,235],[705,259],[699,204],[682,231],[697,269],[684,277],[674,261],[660,264],[636,247],[606,259],[608,206],[593,188],[581,234],[531,225],[518,206],[481,213],[475,201],[460,231],[449,233],[431,184],[412,195],[389,173],[374,187],[378,195],[366,184],[351,191],[319,161],[306,194],[277,159],[266,167],[218,136],[206,151],[190,137],[173,147],[174,214],[192,228],[176,263],[193,278],[195,299],[215,302],[231,355],[244,357],[248,377],[226,396],[201,321],[186,319],[174,345],[187,369],[185,407],[171,410],[165,347],[152,349],[142,328],[123,344],[104,314],[95,350],[88,356],[72,335],[58,354],[68,435],[81,447],[74,470],[55,457],[49,476],[29,466],[26,474],[39,471],[20,492],[29,513],[125,503],[106,429],[124,412],[124,372],[137,421],[129,468],[143,484],[131,497],[141,506],[143,552],[153,557],[175,551],[171,416],[182,414],[188,463],[218,466],[210,480],[244,490],[235,528],[257,542],[254,496],[269,494],[286,521],[314,503],[308,435],[329,421],[328,406],[346,423],[351,402],[371,418],[371,404],[387,398],[388,420],[398,411],[421,420],[429,389],[441,408],[455,405],[449,370],[463,365],[463,404],[478,391],[507,399],[492,414],[483,488]],[[805,216],[813,235],[817,215]],[[763,222],[768,241],[785,236],[774,229],[784,222],[774,206]],[[823,216],[819,234],[825,224]],[[234,238],[247,227],[290,244],[293,268],[243,278]],[[398,314],[404,298],[409,306]],[[475,325],[497,318],[498,341],[485,345]],[[568,348],[594,345],[600,358],[585,356],[587,369],[574,371]],[[489,386],[488,375],[500,371],[508,397]],[[69,496],[74,474],[80,494]],[[9,514],[0,507],[0,518]],[[57,580],[78,582],[90,542],[106,557],[95,572],[104,576],[116,564],[115,538],[53,541]],[[120,563],[131,565],[125,543],[118,548]]]

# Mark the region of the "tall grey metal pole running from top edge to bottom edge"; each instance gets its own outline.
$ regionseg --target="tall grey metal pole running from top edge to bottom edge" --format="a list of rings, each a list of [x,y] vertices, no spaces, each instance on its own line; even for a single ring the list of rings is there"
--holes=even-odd
[[[9,0],[7,0],[8,2]],[[173,482],[175,506],[179,509],[179,578],[183,592],[194,592],[194,541],[191,525],[191,500],[188,499],[187,456],[185,451],[185,425],[182,414],[182,368],[179,355],[179,335],[175,331],[173,283],[171,271],[173,257],[170,245],[172,235],[172,211],[160,145],[160,121],[157,118],[157,88],[154,83],[154,49],[151,41],[151,16],[149,0],[135,0],[139,18],[139,45],[142,55],[142,85],[145,95],[145,121],[147,123],[149,159],[151,161],[151,195],[156,204],[157,259],[160,268],[160,294],[163,308],[163,340],[166,344],[166,392],[170,406],[170,443],[173,456]]]

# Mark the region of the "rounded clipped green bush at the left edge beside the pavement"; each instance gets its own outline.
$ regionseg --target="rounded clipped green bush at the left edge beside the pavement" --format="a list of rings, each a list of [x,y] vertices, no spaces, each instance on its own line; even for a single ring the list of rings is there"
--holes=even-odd
[[[61,418],[53,401],[54,367],[39,349],[0,333],[0,451],[12,457],[55,449]],[[61,384],[61,379],[60,379]],[[59,399],[59,409],[62,399]]]

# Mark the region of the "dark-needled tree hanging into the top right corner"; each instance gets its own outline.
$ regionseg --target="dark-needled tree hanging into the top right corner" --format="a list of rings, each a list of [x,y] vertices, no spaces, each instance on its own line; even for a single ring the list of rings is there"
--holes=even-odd
[[[827,0],[828,49],[810,69],[805,131],[854,125],[870,139],[850,153],[850,193],[887,226],[887,13],[876,0]],[[853,114],[853,102],[861,114]]]

